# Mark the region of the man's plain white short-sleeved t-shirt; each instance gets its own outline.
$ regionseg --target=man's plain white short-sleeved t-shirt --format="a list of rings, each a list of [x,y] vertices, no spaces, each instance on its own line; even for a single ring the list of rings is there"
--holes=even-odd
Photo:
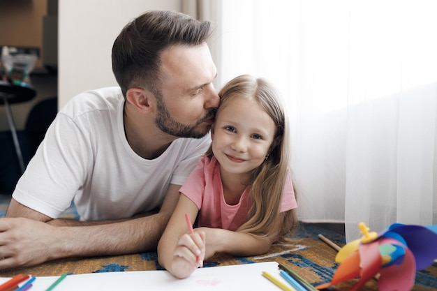
[[[126,140],[123,109],[119,87],[70,100],[48,128],[13,198],[51,218],[74,200],[87,221],[129,218],[160,207],[169,184],[184,184],[210,136],[179,138],[161,156],[146,160]]]

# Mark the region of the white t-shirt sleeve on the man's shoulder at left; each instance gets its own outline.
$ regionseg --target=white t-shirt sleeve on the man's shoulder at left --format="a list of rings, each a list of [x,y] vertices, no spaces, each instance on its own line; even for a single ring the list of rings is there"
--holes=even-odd
[[[13,198],[51,218],[59,217],[82,186],[89,152],[86,144],[77,124],[58,114],[18,181]]]

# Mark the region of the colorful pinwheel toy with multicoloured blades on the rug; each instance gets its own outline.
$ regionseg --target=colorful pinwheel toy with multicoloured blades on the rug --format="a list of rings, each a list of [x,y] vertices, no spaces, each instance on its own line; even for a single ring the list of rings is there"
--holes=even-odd
[[[437,258],[437,225],[394,223],[379,234],[359,224],[361,239],[351,241],[337,253],[340,265],[332,281],[317,289],[359,278],[350,290],[358,290],[371,278],[378,278],[380,291],[413,289],[415,273],[433,264]]]

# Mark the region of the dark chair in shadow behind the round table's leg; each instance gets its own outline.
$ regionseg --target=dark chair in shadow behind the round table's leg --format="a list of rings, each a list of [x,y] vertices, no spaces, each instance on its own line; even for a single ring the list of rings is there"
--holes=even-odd
[[[17,130],[24,164],[27,165],[57,114],[57,98],[36,103],[29,112],[24,130]],[[10,130],[0,132],[0,194],[11,194],[22,171]]]

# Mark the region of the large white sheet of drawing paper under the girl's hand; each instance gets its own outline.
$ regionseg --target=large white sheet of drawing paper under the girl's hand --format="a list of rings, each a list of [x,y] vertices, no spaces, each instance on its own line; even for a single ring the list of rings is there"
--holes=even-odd
[[[168,271],[124,271],[68,275],[54,291],[120,291],[120,290],[280,290],[262,276],[268,271],[279,281],[286,283],[279,274],[277,262],[259,262],[221,267],[196,269],[191,276],[179,280]],[[59,276],[36,277],[29,291],[44,291]],[[10,278],[0,278],[0,283]],[[20,284],[22,285],[22,284]]]

